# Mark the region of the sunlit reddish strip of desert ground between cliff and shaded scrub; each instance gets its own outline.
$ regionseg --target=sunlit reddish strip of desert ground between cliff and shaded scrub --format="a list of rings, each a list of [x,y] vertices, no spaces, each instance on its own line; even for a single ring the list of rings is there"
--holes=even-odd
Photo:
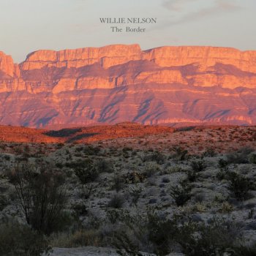
[[[20,145],[21,151],[27,143],[44,144],[48,147],[47,150],[50,145],[63,145],[64,143],[99,143],[104,148],[132,147],[139,150],[154,148],[159,151],[167,150],[170,145],[184,145],[189,151],[202,153],[206,148],[215,148],[219,152],[225,152],[236,151],[242,147],[254,147],[255,131],[256,127],[253,126],[171,128],[129,122],[60,130],[1,126],[0,141],[7,144],[14,143],[16,149]]]

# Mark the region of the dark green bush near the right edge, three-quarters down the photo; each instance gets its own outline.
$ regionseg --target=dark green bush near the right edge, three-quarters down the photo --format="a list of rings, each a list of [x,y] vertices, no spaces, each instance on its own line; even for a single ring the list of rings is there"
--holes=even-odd
[[[229,189],[238,200],[246,200],[249,196],[249,189],[252,187],[252,182],[246,176],[239,173],[229,173],[228,175]]]

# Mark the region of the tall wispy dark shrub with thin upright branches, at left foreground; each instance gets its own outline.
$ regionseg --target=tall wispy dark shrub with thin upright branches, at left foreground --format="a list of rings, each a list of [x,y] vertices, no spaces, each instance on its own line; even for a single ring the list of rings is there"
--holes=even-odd
[[[42,233],[62,229],[68,219],[64,212],[67,194],[64,176],[42,166],[34,170],[31,165],[17,165],[8,173],[14,185],[26,222]]]

